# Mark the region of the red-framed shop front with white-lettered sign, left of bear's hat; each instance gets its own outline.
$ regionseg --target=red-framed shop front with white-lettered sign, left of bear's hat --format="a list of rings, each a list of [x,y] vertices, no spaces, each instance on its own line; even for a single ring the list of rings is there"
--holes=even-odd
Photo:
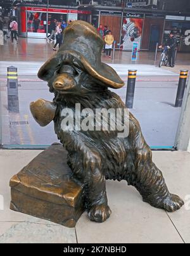
[[[51,20],[65,21],[68,24],[73,20],[90,22],[90,17],[91,11],[21,6],[18,14],[19,35],[43,39],[50,32]]]

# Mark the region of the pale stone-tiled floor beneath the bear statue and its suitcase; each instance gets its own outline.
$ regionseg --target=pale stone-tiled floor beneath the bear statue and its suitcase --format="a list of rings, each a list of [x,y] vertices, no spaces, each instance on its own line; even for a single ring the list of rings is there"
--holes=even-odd
[[[153,208],[125,182],[108,181],[110,219],[98,224],[89,221],[85,212],[72,229],[9,210],[9,179],[39,153],[0,151],[0,243],[190,243],[189,153],[153,152],[171,193],[186,203],[178,212]]]

